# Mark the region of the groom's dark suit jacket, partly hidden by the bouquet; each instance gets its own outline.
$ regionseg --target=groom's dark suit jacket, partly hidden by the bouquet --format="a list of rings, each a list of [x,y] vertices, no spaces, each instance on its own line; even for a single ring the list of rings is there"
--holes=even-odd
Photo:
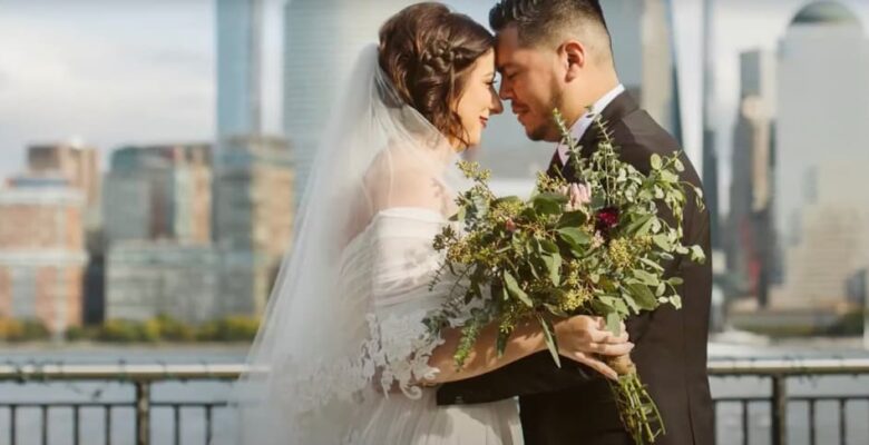
[[[602,112],[623,160],[647,174],[653,154],[672,155],[678,144],[634,99],[622,93]],[[583,136],[583,156],[596,149],[601,135],[594,127]],[[700,177],[682,155],[682,180],[700,186]],[[553,158],[550,174],[562,168],[568,179],[573,169]],[[689,199],[683,218],[685,244],[699,244],[710,254],[710,220],[706,210]],[[674,224],[673,217],[662,215]],[[661,408],[667,434],[656,445],[710,445],[713,443],[713,409],[706,375],[706,340],[712,289],[711,259],[696,265],[676,258],[667,265],[670,276],[680,276],[681,310],[670,306],[632,317],[627,322],[632,357],[641,378]],[[604,377],[575,362],[563,359],[557,368],[548,352],[538,353],[492,373],[446,384],[438,403],[476,404],[519,396],[527,445],[628,445],[611,389]]]

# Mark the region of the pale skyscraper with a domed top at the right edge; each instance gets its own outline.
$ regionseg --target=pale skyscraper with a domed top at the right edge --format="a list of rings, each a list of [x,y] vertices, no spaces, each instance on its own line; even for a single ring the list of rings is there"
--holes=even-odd
[[[869,165],[869,39],[843,4],[812,3],[781,39],[777,68],[775,225],[787,241],[782,298],[843,301],[847,280],[866,254],[858,246],[869,236],[860,214],[869,208],[869,178],[858,168]]]

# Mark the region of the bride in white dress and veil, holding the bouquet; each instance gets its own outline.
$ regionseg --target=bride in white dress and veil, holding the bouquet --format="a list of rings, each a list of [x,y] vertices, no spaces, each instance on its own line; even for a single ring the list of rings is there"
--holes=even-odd
[[[504,356],[495,327],[457,369],[458,333],[424,318],[455,280],[430,289],[431,247],[462,189],[457,157],[502,111],[494,38],[439,3],[409,7],[362,51],[322,139],[295,245],[236,385],[243,444],[520,444],[517,404],[438,407],[436,386],[543,350],[518,329]],[[557,322],[562,354],[613,375],[589,350],[625,354],[596,320]],[[597,337],[595,337],[597,335]],[[597,346],[597,348],[593,348]]]

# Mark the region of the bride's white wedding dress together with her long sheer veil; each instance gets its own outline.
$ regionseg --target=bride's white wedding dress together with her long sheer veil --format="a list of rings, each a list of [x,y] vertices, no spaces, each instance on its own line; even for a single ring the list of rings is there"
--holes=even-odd
[[[231,404],[238,435],[267,445],[516,445],[517,403],[439,407],[426,318],[434,236],[468,185],[457,154],[406,106],[367,48],[310,176],[294,246]],[[237,442],[235,442],[237,439]]]

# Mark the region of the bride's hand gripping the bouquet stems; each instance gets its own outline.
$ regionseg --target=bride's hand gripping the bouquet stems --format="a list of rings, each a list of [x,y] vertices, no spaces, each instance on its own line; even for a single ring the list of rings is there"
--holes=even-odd
[[[599,317],[577,315],[555,322],[560,355],[579,362],[607,378],[617,379],[618,374],[598,356],[618,357],[629,354],[634,344],[628,342],[625,324],[621,335],[606,329],[606,322]]]

